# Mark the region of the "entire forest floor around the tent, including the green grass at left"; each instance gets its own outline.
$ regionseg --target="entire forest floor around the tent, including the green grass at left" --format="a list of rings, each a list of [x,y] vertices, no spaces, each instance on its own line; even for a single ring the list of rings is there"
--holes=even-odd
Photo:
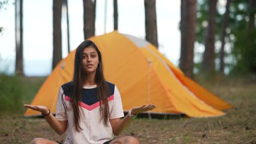
[[[218,75],[212,80],[195,78],[234,107],[222,117],[137,118],[120,136],[135,136],[140,143],[256,143],[256,80]],[[0,75],[0,100],[4,105],[0,108],[9,113],[0,115],[2,143],[30,143],[36,137],[65,140],[65,135],[57,135],[45,119],[22,117],[23,103],[31,102],[44,80],[45,77]],[[14,103],[14,98],[19,101]]]

